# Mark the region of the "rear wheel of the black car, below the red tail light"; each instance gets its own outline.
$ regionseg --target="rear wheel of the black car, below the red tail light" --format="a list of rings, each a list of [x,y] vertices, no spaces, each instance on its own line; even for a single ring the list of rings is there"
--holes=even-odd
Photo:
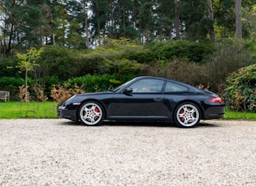
[[[178,105],[174,112],[174,121],[179,127],[195,127],[201,119],[201,111],[196,104],[186,102]]]

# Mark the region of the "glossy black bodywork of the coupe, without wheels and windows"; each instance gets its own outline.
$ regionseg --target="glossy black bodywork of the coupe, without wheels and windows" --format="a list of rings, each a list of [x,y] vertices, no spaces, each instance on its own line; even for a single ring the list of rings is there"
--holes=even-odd
[[[135,92],[131,86],[141,80],[163,82],[157,92]],[[181,91],[167,91],[167,84],[174,83]],[[159,83],[160,84],[160,83]],[[179,89],[178,89],[179,90]],[[167,92],[164,92],[167,91]],[[59,117],[78,121],[78,109],[85,101],[93,100],[104,107],[106,120],[158,120],[173,122],[173,111],[183,102],[197,104],[202,120],[217,119],[224,115],[224,103],[210,102],[217,97],[210,91],[167,78],[138,77],[124,83],[114,91],[87,93],[73,96],[58,105]]]

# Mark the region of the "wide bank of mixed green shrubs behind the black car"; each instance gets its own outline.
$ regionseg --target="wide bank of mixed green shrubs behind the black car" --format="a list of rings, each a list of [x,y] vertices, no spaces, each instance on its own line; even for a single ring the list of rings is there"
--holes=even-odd
[[[226,40],[215,45],[176,40],[152,42],[143,46],[134,40],[122,38],[122,40],[105,40],[97,49],[86,50],[50,45],[44,47],[41,53],[38,61],[40,66],[29,74],[33,81],[30,79],[28,86],[29,91],[33,92],[33,84],[41,84],[45,95],[50,98],[52,85],[60,83],[63,86],[63,82],[67,79],[71,85],[78,83],[82,86],[84,82],[89,83],[85,86],[85,91],[88,92],[95,91],[95,87],[101,91],[107,90],[110,86],[115,87],[115,83],[102,81],[102,78],[113,79],[113,82],[125,82],[134,76],[149,74],[174,78],[195,86],[202,84],[210,87],[210,91],[222,95],[228,74],[242,66],[252,64],[255,51],[254,40],[249,42]],[[111,78],[106,77],[105,74]],[[88,78],[85,78],[87,76]],[[91,76],[93,78],[102,76],[97,81],[107,86],[91,83],[93,81],[89,80]],[[3,83],[2,87],[3,85],[7,87],[8,83]],[[23,83],[14,87],[15,91],[11,91],[15,92],[15,96],[19,91],[18,87]]]

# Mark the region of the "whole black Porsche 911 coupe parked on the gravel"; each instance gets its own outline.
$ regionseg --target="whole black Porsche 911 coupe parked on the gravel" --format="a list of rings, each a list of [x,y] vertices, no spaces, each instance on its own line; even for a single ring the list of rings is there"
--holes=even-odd
[[[224,115],[223,99],[167,78],[137,77],[114,91],[74,95],[57,107],[59,117],[84,125],[102,120],[169,121],[179,127],[195,127],[200,120]]]

